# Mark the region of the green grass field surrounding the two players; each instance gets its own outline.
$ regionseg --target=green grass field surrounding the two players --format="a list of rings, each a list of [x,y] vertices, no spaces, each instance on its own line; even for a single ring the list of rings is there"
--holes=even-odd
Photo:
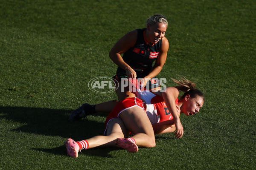
[[[182,139],[67,157],[64,141],[102,134],[106,117],[73,123],[71,111],[117,99],[88,82],[112,77],[111,47],[157,13],[169,21],[170,45],[157,77],[196,82],[204,107],[180,116]],[[255,84],[254,0],[0,0],[0,170],[256,169]]]

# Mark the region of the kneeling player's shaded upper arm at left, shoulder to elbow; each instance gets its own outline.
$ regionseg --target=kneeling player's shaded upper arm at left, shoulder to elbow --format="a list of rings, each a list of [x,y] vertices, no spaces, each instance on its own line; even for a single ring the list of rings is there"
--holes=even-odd
[[[116,44],[111,48],[111,54],[123,54],[125,51],[128,51],[129,48],[133,47],[137,41],[137,30],[128,32]]]

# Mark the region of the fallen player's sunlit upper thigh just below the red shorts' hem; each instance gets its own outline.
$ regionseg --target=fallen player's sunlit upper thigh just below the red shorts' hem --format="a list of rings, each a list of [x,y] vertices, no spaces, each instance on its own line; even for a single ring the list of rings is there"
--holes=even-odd
[[[151,122],[142,108],[138,106],[129,108],[120,113],[119,118],[122,119],[126,128],[131,131],[131,133],[145,133],[148,136],[154,136],[154,130]]]

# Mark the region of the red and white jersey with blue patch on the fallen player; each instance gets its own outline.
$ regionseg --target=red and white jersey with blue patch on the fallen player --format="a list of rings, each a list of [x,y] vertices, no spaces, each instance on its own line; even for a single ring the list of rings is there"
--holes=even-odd
[[[144,90],[140,90],[138,86],[136,86],[136,89],[137,97],[145,102],[144,108],[146,108],[148,119],[152,125],[173,119],[173,116],[167,108],[162,96],[153,94],[145,88]],[[175,100],[175,103],[177,105],[178,99]]]

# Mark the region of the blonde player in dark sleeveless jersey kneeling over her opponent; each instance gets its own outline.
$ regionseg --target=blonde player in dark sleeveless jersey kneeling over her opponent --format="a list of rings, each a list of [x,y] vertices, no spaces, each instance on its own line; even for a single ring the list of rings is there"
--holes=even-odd
[[[128,32],[111,49],[109,57],[118,65],[113,79],[119,82],[116,88],[119,101],[135,97],[128,87],[122,86],[122,81],[126,81],[122,78],[142,78],[140,83],[148,90],[160,86],[160,82],[154,77],[160,73],[166,62],[169,49],[169,42],[165,37],[167,27],[166,17],[155,14],[148,18],[146,28]],[[155,62],[154,65],[153,62]],[[114,105],[116,101],[92,106],[84,104],[71,113],[70,121],[76,120],[76,117],[79,118],[84,110],[93,113],[96,109],[99,112],[110,113]]]

